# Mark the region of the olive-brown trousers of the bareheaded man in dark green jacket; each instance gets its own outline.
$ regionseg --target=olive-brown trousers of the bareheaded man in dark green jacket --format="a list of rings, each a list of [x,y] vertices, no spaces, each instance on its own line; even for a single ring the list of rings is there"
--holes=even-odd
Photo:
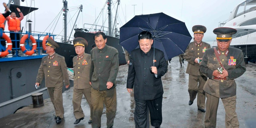
[[[116,117],[116,88],[103,91],[91,88],[91,94],[93,98],[91,101],[93,115],[92,128],[101,127],[103,103],[106,106],[107,128],[111,128],[114,125],[114,118]]]

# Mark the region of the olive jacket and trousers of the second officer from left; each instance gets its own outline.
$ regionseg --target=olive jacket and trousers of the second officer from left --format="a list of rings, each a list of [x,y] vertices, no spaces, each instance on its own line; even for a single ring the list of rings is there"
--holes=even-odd
[[[74,90],[73,90],[73,108],[76,119],[84,117],[84,112],[81,107],[81,100],[84,94],[90,108],[91,108],[91,85],[90,85],[90,66],[91,55],[82,54],[82,56],[75,56],[73,58],[74,68]],[[90,109],[91,110],[91,109]],[[92,111],[91,111],[92,115]],[[90,118],[90,120],[92,120]]]

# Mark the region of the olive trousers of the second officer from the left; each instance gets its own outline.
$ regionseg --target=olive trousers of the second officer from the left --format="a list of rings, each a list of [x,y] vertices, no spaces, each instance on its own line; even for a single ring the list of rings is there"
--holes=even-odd
[[[84,117],[84,112],[82,110],[82,107],[81,107],[81,101],[82,101],[82,98],[83,98],[83,94],[84,94],[84,97],[86,98],[89,106],[90,106],[90,109],[92,107],[92,105],[90,104],[90,100],[91,99],[91,88],[86,88],[86,89],[73,89],[73,100],[72,100],[72,103],[73,103],[73,108],[74,108],[74,115],[75,115],[75,118],[76,119],[80,119],[82,117]],[[90,111],[90,120],[92,120],[92,111]]]

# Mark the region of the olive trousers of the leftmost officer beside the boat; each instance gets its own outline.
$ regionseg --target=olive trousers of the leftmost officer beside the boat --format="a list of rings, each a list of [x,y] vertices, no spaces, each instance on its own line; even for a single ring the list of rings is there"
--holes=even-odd
[[[64,108],[63,108],[63,100],[62,100],[62,86],[47,88],[50,99],[54,106],[55,116],[59,116],[60,118],[64,117]]]

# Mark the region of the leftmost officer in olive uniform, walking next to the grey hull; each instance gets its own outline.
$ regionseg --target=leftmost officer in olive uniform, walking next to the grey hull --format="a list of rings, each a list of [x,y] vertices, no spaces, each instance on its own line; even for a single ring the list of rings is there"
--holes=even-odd
[[[59,124],[64,117],[62,86],[64,84],[66,88],[69,86],[67,64],[63,56],[55,53],[55,49],[59,45],[52,38],[48,38],[47,41],[46,53],[48,56],[42,58],[36,77],[36,85],[39,86],[44,78],[45,86],[54,106],[56,123]]]

